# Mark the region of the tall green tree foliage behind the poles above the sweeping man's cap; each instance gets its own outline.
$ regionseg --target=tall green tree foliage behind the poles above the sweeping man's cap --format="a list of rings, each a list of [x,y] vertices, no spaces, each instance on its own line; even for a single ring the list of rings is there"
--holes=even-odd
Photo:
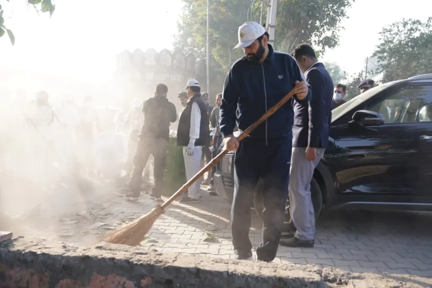
[[[183,14],[175,35],[174,47],[184,53],[206,58],[207,0],[182,0]],[[339,41],[340,23],[347,17],[352,0],[279,0],[275,48],[290,53],[296,45],[312,43],[319,52],[334,48]],[[240,58],[238,27],[246,21],[260,22],[267,17],[268,0],[210,1],[210,50],[212,72],[223,77]]]

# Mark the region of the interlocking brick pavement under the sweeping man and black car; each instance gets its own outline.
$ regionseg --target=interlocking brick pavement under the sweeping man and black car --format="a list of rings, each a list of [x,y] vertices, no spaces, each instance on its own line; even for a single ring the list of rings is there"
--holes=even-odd
[[[156,220],[142,242],[148,249],[233,258],[230,204],[203,191],[193,205],[174,202]],[[101,235],[147,213],[155,203],[142,196],[138,202],[104,195],[88,211],[55,220],[53,240],[92,244]],[[254,211],[252,211],[255,215]],[[384,212],[331,212],[317,221],[314,248],[280,246],[275,263],[313,264],[349,272],[412,274],[432,277],[432,214]],[[254,249],[261,240],[262,223],[253,217],[250,239]],[[47,228],[44,229],[44,237]],[[28,230],[26,231],[28,233]]]

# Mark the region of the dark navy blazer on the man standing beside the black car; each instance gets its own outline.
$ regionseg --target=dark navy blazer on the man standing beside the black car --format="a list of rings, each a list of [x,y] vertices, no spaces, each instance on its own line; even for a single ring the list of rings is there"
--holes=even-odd
[[[293,101],[293,147],[327,148],[332,120],[333,80],[324,64],[317,62],[304,76],[312,89],[312,99],[307,103]]]

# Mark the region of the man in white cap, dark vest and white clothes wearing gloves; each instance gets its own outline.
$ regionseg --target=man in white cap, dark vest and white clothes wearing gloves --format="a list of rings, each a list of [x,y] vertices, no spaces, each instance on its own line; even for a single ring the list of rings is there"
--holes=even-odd
[[[188,101],[180,114],[177,145],[183,146],[186,178],[189,180],[201,169],[203,146],[209,140],[208,108],[201,97],[201,85],[195,79],[186,84]],[[188,189],[180,203],[193,203],[201,201],[200,183],[197,181]]]

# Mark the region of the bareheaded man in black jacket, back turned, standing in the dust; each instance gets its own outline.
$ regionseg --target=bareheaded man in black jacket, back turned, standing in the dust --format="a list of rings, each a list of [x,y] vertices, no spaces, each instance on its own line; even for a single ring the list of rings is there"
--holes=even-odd
[[[167,93],[168,87],[165,84],[157,84],[154,97],[144,101],[144,123],[138,139],[130,182],[132,197],[138,198],[140,196],[143,170],[148,157],[152,154],[154,158],[154,188],[150,198],[161,201],[169,125],[177,120],[175,106],[166,98]]]

